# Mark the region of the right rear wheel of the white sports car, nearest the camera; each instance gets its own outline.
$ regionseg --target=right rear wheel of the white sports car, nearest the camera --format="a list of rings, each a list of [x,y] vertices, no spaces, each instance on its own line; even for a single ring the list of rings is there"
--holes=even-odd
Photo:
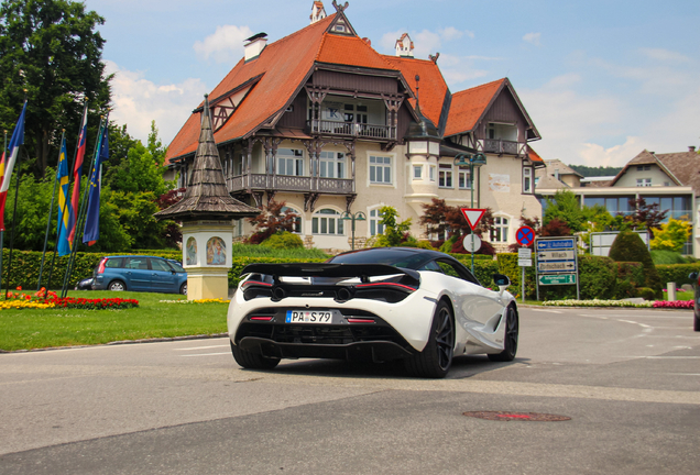
[[[440,301],[433,314],[430,334],[425,349],[406,360],[406,369],[414,376],[444,378],[455,356],[455,318],[446,301]]]

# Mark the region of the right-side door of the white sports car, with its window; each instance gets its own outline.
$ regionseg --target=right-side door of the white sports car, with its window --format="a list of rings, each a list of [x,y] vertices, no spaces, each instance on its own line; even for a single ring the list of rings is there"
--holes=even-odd
[[[450,289],[455,306],[459,309],[455,316],[459,320],[458,324],[481,335],[493,333],[505,308],[501,295],[482,287],[469,269],[457,261],[445,258],[436,259],[436,263],[446,275],[459,279]]]

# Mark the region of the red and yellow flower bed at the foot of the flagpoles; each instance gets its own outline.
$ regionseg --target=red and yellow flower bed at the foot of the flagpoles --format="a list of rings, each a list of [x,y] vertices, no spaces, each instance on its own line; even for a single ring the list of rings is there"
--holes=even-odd
[[[21,292],[22,287],[17,288],[17,292],[9,291],[4,300],[0,300],[2,309],[85,309],[85,310],[122,310],[139,307],[139,300],[110,298],[110,299],[76,299],[73,297],[61,298],[55,291],[46,291],[42,288],[35,294]]]

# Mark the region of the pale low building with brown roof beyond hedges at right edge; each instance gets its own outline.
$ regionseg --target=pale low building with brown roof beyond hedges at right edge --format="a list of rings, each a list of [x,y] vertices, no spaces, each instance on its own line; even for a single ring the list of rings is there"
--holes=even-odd
[[[601,181],[577,184],[570,179],[576,173],[559,161],[545,161],[538,170],[537,195],[551,197],[568,189],[579,197],[581,206],[604,206],[611,214],[634,212],[631,200],[644,198],[647,205],[658,205],[669,218],[683,219],[693,224],[693,235],[682,253],[700,257],[700,222],[697,197],[700,197],[700,155],[696,147],[687,152],[655,153],[642,151],[615,177]]]

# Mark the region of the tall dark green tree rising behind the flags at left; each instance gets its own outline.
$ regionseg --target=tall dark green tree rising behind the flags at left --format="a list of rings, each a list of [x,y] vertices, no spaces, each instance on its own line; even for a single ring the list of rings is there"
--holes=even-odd
[[[83,99],[89,100],[91,136],[110,101],[102,46],[105,19],[72,0],[3,0],[0,4],[0,123],[11,130],[29,100],[25,147],[37,176],[57,157],[61,130],[75,146]],[[56,153],[52,153],[52,150]],[[87,172],[86,172],[87,173]]]

